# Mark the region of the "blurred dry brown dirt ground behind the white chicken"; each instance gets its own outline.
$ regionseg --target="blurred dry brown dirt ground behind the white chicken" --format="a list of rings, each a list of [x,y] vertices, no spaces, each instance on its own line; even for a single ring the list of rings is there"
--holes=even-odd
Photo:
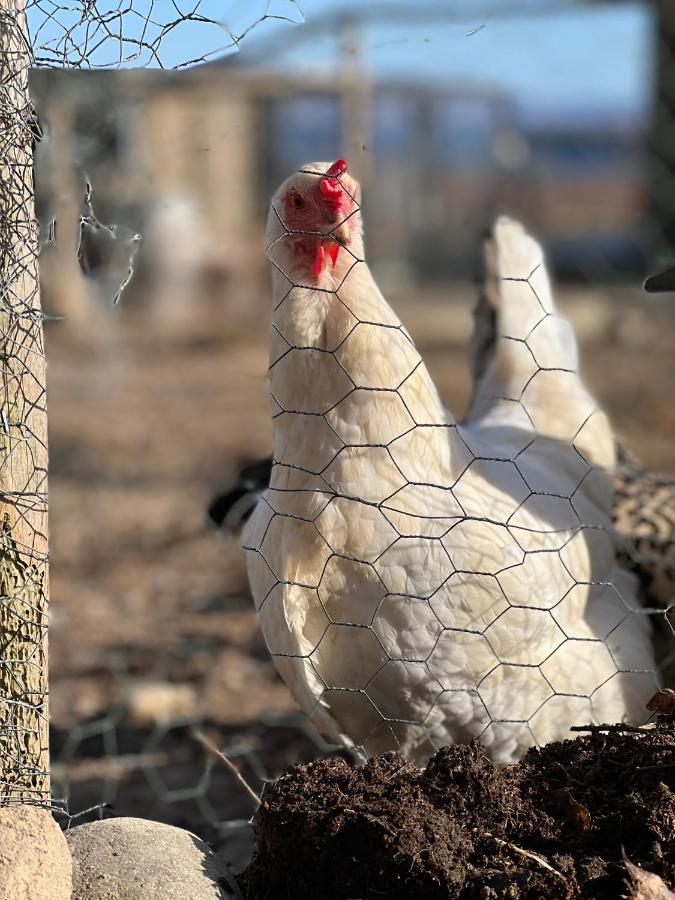
[[[470,296],[394,298],[455,412]],[[567,291],[561,305],[618,432],[672,470],[675,301]],[[270,451],[268,324],[197,313],[179,329],[131,305],[48,326],[54,790],[72,815],[185,826],[240,864],[253,802],[194,729],[256,790],[322,744],[267,658],[237,542],[205,526],[238,463]]]

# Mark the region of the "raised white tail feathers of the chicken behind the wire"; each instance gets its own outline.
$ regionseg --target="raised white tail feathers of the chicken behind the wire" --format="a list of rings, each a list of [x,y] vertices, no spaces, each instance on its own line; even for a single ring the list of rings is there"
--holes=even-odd
[[[544,251],[506,216],[483,243],[473,364],[469,423],[510,424],[613,466],[611,429],[579,377],[576,336],[556,310]]]

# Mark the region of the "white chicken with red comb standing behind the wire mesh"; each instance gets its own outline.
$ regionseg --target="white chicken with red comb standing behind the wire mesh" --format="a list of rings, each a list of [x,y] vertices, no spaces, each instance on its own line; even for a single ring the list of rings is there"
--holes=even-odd
[[[359,203],[343,160],[312,163],[268,221],[274,466],[243,545],[282,678],[328,739],[418,762],[644,719],[614,441],[541,248],[506,218],[486,241],[496,338],[458,425],[364,260]]]

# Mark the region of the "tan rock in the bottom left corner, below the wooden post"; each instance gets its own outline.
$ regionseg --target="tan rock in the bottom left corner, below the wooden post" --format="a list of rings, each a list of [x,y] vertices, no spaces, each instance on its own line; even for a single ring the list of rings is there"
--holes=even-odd
[[[0,900],[70,900],[72,864],[47,809],[0,809]]]

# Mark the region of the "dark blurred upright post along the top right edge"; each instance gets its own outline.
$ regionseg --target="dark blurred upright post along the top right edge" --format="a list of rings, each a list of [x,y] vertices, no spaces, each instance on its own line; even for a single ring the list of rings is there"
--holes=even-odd
[[[657,33],[654,111],[648,141],[653,265],[675,259],[675,2],[655,0]]]

